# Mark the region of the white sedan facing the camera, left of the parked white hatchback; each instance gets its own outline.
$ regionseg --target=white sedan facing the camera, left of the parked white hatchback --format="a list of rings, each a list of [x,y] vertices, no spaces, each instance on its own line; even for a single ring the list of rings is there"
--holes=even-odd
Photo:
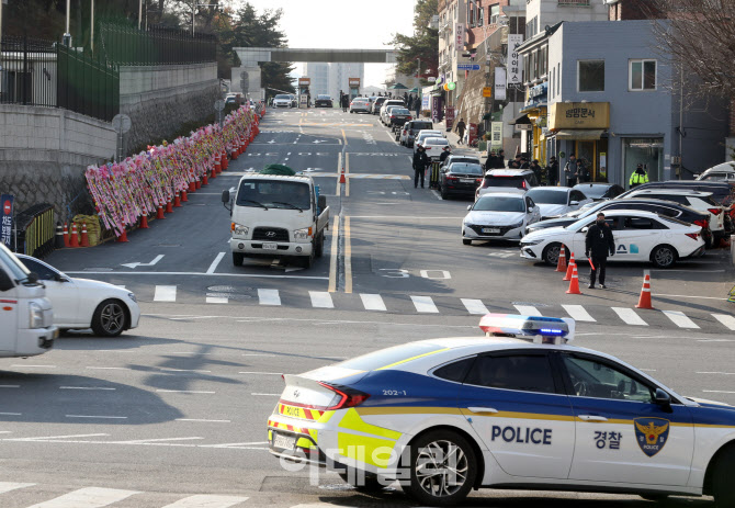
[[[519,241],[525,228],[541,218],[541,211],[524,194],[496,192],[486,194],[467,206],[462,221],[462,244],[473,240]]]

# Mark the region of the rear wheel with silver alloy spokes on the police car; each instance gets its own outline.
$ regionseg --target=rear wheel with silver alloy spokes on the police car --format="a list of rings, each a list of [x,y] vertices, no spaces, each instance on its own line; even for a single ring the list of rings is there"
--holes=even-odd
[[[427,432],[410,444],[410,484],[404,489],[420,504],[455,505],[475,485],[475,452],[459,433]]]

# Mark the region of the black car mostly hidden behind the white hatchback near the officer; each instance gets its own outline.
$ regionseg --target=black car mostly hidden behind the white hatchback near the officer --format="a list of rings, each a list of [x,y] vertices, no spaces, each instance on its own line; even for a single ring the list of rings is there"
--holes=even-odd
[[[612,210],[641,210],[653,212],[667,217],[674,217],[685,223],[696,224],[702,228],[702,238],[708,246],[712,242],[712,232],[710,230],[710,214],[699,212],[691,206],[686,206],[674,201],[652,200],[647,197],[632,197],[630,200],[608,200],[595,203],[592,206],[562,215],[556,218],[540,221],[529,226],[529,233],[549,227],[568,226],[580,218],[597,215],[599,212],[609,212]]]

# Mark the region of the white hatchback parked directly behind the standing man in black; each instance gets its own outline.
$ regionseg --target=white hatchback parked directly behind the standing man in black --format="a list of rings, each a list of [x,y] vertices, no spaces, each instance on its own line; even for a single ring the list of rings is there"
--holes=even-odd
[[[704,252],[700,226],[640,210],[613,210],[604,215],[615,239],[611,261],[651,261],[656,268],[670,268],[677,259]],[[521,256],[555,266],[564,245],[576,260],[586,260],[585,237],[595,221],[585,217],[566,227],[531,233],[521,239]]]

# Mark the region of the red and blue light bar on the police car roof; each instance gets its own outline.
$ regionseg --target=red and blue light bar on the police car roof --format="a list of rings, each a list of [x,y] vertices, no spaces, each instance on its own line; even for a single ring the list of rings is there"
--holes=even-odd
[[[562,345],[574,340],[576,324],[568,317],[486,314],[479,320],[479,328],[488,337],[512,336],[531,338],[539,343]]]

